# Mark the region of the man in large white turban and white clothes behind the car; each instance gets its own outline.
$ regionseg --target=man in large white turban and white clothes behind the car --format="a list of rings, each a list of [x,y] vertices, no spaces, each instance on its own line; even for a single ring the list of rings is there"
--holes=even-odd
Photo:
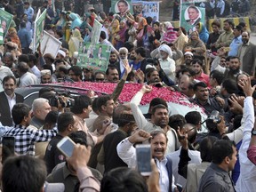
[[[164,70],[166,76],[172,81],[175,81],[175,61],[172,60],[172,50],[167,44],[162,44],[159,47],[160,52],[160,66]]]

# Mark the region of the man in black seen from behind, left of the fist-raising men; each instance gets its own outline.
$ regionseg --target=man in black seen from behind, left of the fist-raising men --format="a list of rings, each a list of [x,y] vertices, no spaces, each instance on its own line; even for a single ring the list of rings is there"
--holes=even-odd
[[[129,111],[123,111],[118,119],[118,129],[106,136],[98,155],[98,162],[105,165],[105,172],[109,172],[116,167],[127,167],[127,164],[117,155],[116,146],[131,132],[137,129],[134,116]]]

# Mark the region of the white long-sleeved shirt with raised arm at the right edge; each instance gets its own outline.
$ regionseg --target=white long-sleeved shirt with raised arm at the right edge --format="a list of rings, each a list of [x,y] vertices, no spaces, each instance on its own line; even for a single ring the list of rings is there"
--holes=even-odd
[[[256,191],[256,166],[247,157],[247,149],[251,141],[251,132],[254,126],[254,106],[252,97],[244,100],[244,136],[239,149],[240,176],[236,182],[236,191]]]

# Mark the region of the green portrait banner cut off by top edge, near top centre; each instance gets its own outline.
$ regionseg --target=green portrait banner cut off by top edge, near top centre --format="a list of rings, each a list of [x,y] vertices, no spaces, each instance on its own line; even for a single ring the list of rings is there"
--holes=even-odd
[[[121,17],[124,13],[130,11],[132,13],[132,0],[112,0],[111,1],[111,12],[120,14]]]

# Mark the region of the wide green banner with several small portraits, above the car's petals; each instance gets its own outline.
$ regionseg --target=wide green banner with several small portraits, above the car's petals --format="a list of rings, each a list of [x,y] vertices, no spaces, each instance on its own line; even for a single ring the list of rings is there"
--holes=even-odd
[[[76,65],[81,68],[92,68],[94,71],[106,71],[111,47],[106,44],[80,44]]]

